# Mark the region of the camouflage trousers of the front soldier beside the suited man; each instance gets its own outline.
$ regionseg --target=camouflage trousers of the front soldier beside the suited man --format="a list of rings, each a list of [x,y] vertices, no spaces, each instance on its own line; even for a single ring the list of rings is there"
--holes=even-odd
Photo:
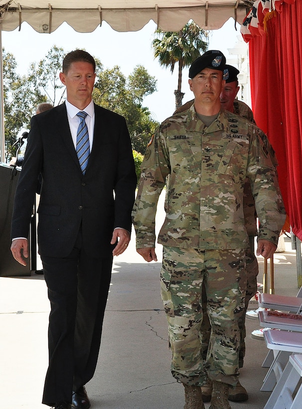
[[[178,381],[202,386],[212,380],[238,381],[239,317],[245,308],[245,249],[163,248],[161,298],[172,352],[171,373]],[[211,333],[202,357],[202,283]]]

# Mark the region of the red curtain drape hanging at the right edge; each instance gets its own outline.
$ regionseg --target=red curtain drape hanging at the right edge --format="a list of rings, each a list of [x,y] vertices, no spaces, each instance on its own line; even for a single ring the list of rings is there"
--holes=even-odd
[[[249,40],[252,108],[279,162],[293,232],[302,240],[302,1],[283,3]]]

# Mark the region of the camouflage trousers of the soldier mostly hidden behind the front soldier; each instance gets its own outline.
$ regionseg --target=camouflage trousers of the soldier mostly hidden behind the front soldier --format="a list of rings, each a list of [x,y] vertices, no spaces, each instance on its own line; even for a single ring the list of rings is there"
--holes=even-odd
[[[243,360],[245,356],[245,318],[246,311],[249,306],[249,301],[257,292],[257,276],[259,273],[258,261],[255,256],[254,236],[250,237],[250,248],[246,249],[246,273],[247,273],[247,289],[245,295],[245,308],[239,314],[239,329],[240,329],[240,349],[239,349],[239,368],[243,367]],[[201,348],[203,351],[203,359],[206,359],[208,345],[211,335],[211,323],[207,314],[207,297],[204,284],[202,285],[202,311],[203,320],[200,331]]]

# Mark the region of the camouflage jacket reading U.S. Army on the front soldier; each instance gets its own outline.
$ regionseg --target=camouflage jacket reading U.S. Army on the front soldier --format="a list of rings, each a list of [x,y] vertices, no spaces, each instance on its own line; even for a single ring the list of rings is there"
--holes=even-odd
[[[260,137],[261,136],[261,137]],[[267,138],[246,119],[221,110],[206,127],[187,111],[167,118],[146,150],[133,222],[137,248],[155,246],[155,213],[170,174],[167,209],[158,242],[199,249],[246,248],[243,187],[251,181],[259,238],[278,243],[285,220]]]

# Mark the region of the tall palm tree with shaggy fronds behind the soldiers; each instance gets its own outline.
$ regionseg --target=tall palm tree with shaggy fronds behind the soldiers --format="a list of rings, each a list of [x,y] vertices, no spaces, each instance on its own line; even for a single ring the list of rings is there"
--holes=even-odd
[[[170,67],[173,72],[178,61],[178,85],[174,91],[175,106],[178,108],[184,95],[181,92],[182,69],[191,65],[200,56],[200,50],[205,52],[208,49],[208,32],[194,22],[189,22],[180,31],[165,32],[159,28],[155,31],[156,34],[159,38],[152,41],[152,47],[159,64]]]

